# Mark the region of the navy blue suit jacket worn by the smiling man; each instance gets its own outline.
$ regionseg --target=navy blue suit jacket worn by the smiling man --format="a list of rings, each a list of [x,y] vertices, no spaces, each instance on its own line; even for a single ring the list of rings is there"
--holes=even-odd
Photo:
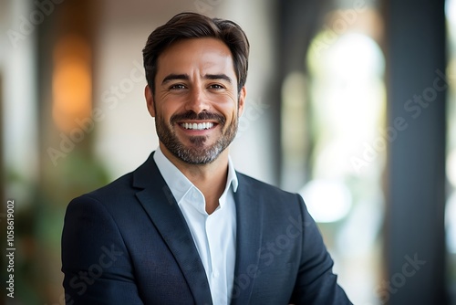
[[[192,234],[152,155],[68,205],[67,304],[212,304]],[[350,304],[301,196],[237,175],[232,304]]]

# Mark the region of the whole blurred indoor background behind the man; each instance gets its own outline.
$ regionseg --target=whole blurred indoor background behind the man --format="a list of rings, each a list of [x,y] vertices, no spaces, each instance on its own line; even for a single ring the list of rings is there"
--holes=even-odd
[[[234,163],[303,195],[349,298],[456,304],[456,0],[0,0],[1,301],[64,304],[66,206],[157,147],[141,49],[182,11],[244,28]]]

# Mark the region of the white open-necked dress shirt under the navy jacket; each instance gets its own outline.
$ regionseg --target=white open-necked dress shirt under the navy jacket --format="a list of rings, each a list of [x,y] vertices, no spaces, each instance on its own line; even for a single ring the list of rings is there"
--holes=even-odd
[[[213,304],[229,304],[236,256],[236,206],[233,194],[238,185],[231,158],[228,159],[225,189],[219,198],[219,206],[211,215],[206,213],[202,192],[165,157],[160,147],[153,158],[192,232],[209,281]]]

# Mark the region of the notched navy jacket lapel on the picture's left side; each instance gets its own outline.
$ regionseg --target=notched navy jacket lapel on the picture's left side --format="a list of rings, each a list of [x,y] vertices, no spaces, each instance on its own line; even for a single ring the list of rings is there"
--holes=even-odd
[[[142,188],[137,197],[179,264],[195,303],[212,304],[211,290],[192,234],[152,156],[153,153],[134,173],[133,185]]]

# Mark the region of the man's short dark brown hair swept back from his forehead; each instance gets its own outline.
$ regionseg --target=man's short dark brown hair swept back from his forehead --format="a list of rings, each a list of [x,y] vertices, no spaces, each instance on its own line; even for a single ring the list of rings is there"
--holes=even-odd
[[[237,89],[240,91],[247,79],[249,41],[243,29],[230,20],[210,18],[196,13],[181,13],[173,16],[165,25],[157,27],[148,37],[142,49],[146,79],[152,93],[157,74],[157,59],[173,42],[182,39],[213,37],[230,48],[233,56]]]

